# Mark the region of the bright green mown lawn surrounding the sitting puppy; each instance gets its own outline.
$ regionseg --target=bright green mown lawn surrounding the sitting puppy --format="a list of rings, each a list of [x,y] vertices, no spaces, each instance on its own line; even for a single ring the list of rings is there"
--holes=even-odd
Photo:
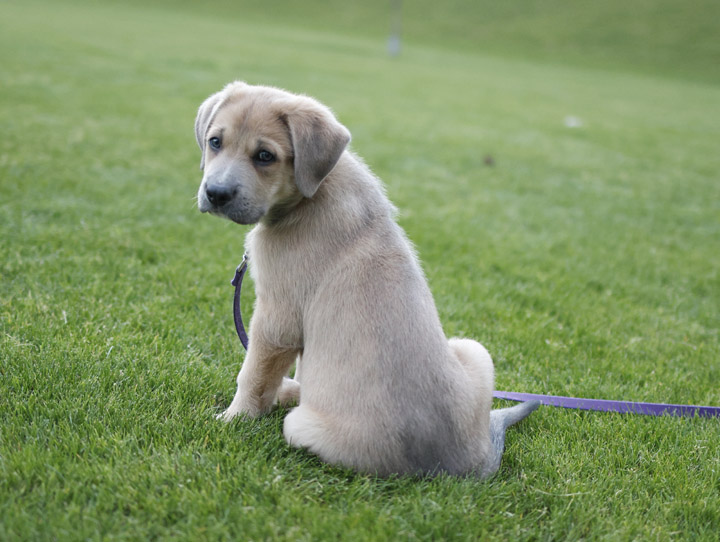
[[[408,15],[389,59],[379,4],[357,33],[316,7],[0,4],[0,540],[717,539],[717,420],[543,408],[487,482],[324,465],[282,411],[214,420],[247,230],[195,209],[192,125],[234,78],[336,111],[499,389],[720,405],[716,8],[647,8],[674,33],[623,56],[619,1],[554,48],[567,14],[525,5],[483,3],[473,47],[479,7],[448,35]]]

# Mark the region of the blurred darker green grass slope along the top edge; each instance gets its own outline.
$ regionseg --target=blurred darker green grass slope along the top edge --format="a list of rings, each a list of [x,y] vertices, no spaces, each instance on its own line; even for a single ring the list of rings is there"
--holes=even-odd
[[[380,42],[401,6],[409,46],[720,82],[720,5],[714,0],[216,0],[207,5],[159,0],[152,5]]]

